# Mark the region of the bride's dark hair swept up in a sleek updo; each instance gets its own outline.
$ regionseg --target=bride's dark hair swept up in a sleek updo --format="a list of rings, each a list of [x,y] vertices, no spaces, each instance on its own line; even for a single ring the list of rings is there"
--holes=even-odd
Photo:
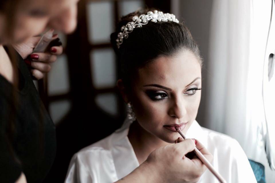
[[[202,65],[202,58],[197,43],[190,31],[183,23],[176,22],[149,22],[141,28],[135,28],[127,39],[123,39],[120,47],[117,47],[117,35],[121,27],[132,21],[133,16],[147,14],[155,9],[142,9],[129,13],[121,18],[116,27],[116,32],[111,34],[111,44],[118,56],[121,65],[123,83],[130,86],[138,69],[154,61],[159,56],[173,56],[180,50],[192,52],[198,57]],[[166,13],[166,12],[164,12]]]

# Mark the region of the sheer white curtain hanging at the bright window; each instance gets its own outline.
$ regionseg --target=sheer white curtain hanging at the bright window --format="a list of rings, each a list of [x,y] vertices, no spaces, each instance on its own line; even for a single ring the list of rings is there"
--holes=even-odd
[[[264,164],[268,183],[275,182],[275,171],[265,152],[262,89],[271,4],[213,0],[205,106],[207,128],[237,139],[248,158]]]

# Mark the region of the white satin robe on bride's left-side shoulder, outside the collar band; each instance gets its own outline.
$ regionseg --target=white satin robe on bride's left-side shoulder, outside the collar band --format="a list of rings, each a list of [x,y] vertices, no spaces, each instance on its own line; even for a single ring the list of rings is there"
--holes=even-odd
[[[101,175],[109,174],[109,172],[114,172],[115,166],[113,163],[113,134],[110,136],[91,144],[80,151],[78,151],[72,157],[70,165],[68,168],[66,182],[74,180],[75,177],[83,179],[80,182],[93,182],[93,180],[98,180],[101,182]],[[88,179],[87,174],[89,174]],[[112,176],[107,177],[113,178]],[[107,180],[106,179],[106,180]],[[97,182],[97,181],[96,181]],[[114,182],[109,180],[107,182]]]

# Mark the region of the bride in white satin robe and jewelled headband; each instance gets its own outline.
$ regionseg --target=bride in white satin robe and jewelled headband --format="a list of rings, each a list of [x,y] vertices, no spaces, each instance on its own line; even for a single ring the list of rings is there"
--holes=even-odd
[[[130,13],[117,27],[111,42],[121,63],[117,86],[127,118],[113,134],[73,156],[65,182],[115,182],[156,148],[175,143],[180,137],[176,127],[213,154],[212,165],[227,182],[256,182],[239,143],[195,120],[202,58],[188,28],[156,10]],[[218,180],[206,170],[199,182]]]

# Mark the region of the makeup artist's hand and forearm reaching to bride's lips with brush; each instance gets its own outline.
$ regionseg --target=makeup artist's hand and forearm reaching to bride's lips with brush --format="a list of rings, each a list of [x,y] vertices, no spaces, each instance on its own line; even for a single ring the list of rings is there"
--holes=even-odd
[[[116,183],[198,182],[206,167],[198,158],[189,159],[185,156],[188,152],[193,151],[195,146],[197,146],[207,160],[212,162],[213,156],[199,141],[179,139],[176,144],[154,150],[144,163]]]

